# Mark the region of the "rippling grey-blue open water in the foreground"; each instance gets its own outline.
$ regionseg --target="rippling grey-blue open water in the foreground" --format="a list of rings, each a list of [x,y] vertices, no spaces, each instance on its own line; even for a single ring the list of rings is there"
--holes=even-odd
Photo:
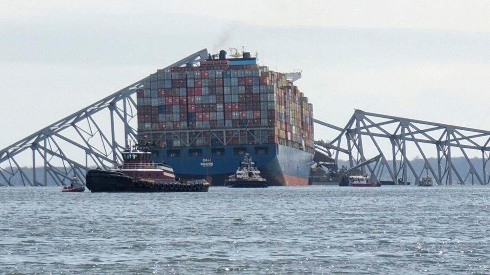
[[[490,274],[490,186],[0,188],[1,274]]]

